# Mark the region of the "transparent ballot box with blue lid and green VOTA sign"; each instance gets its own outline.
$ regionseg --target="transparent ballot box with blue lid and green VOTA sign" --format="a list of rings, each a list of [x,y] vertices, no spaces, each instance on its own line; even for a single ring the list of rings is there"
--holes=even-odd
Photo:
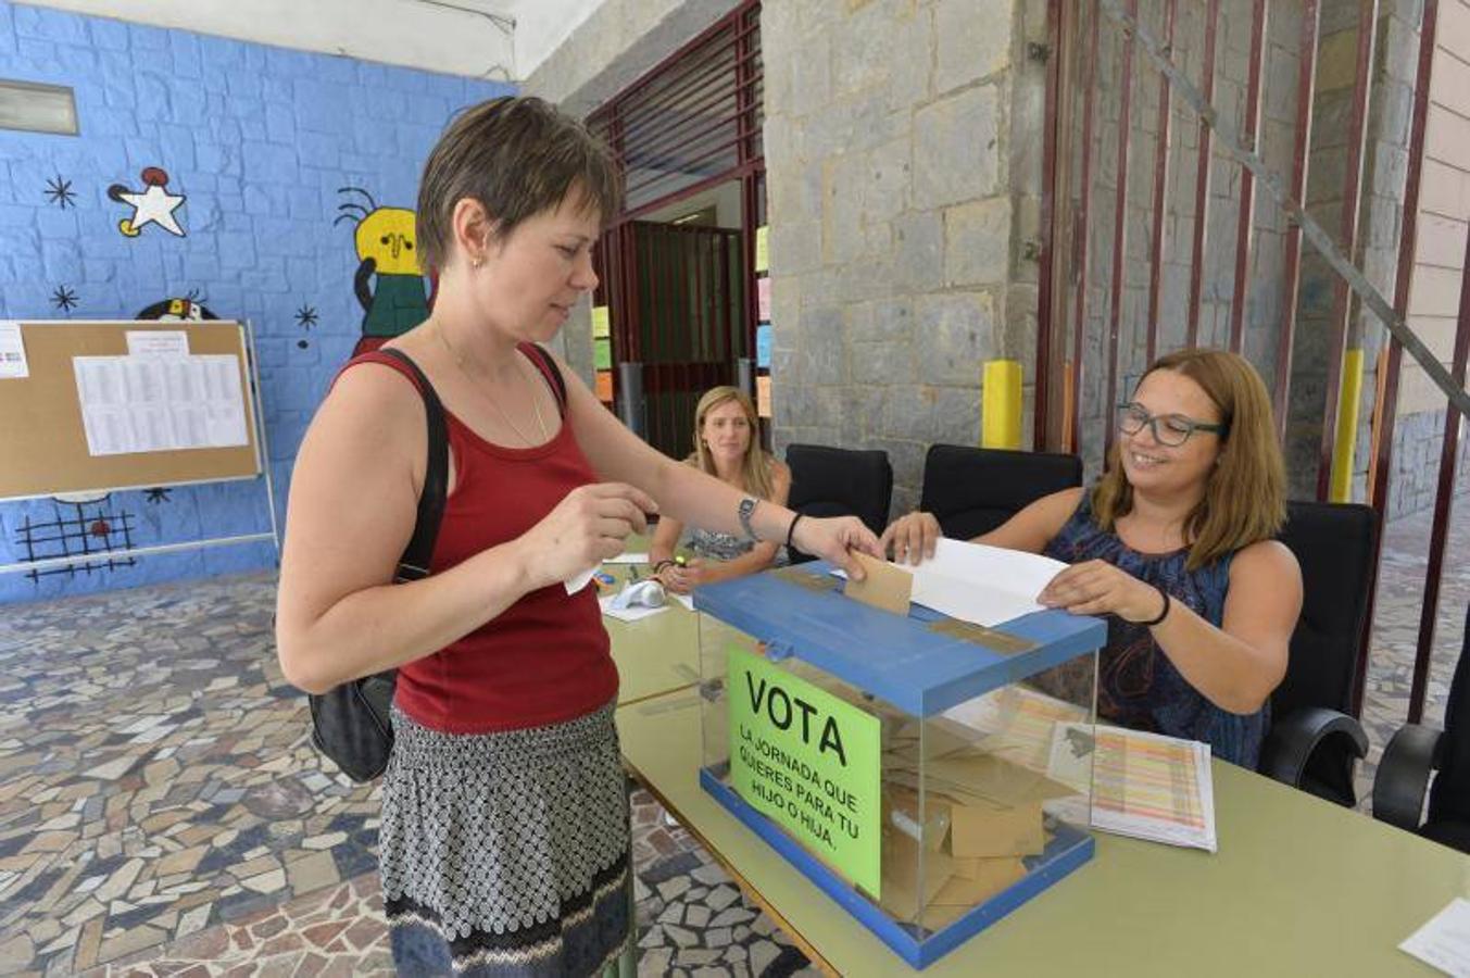
[[[980,628],[825,563],[698,588],[700,782],[914,968],[1092,856],[1095,618]]]

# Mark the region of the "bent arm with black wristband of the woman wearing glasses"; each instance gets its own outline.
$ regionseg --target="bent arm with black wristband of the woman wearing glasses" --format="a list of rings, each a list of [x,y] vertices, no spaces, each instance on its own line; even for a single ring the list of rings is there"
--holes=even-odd
[[[1157,588],[1102,560],[1067,568],[1036,600],[1078,615],[1111,613],[1130,622],[1152,621],[1164,609]],[[1297,557],[1283,544],[1263,540],[1230,563],[1220,628],[1170,600],[1169,613],[1152,632],[1179,674],[1205,699],[1232,713],[1254,713],[1286,675],[1298,615]]]

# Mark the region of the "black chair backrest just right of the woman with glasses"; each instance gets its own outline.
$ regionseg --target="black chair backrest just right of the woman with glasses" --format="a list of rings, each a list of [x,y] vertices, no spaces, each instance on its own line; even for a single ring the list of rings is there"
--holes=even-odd
[[[1286,527],[1277,538],[1301,565],[1302,602],[1286,678],[1272,694],[1276,716],[1308,706],[1355,713],[1354,681],[1364,654],[1377,531],[1372,506],[1286,503]]]

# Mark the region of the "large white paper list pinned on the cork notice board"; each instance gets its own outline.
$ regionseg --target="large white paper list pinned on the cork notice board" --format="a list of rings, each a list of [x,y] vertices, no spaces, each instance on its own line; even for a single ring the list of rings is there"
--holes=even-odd
[[[78,356],[72,371],[94,456],[248,444],[235,356]]]

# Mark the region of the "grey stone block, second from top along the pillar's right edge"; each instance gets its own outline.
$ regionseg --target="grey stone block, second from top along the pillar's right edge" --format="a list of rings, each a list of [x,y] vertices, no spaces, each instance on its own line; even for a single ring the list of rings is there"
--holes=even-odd
[[[913,206],[942,207],[997,190],[995,85],[960,91],[914,113]]]

